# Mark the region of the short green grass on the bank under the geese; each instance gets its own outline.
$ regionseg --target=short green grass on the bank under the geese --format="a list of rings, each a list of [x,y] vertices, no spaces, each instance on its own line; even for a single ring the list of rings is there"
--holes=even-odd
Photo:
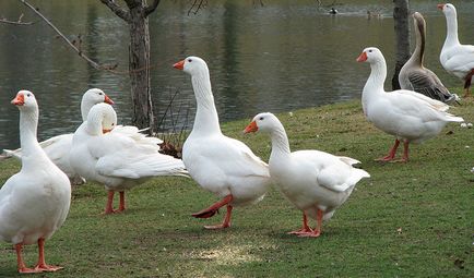
[[[474,122],[474,101],[451,112]],[[268,160],[264,135],[241,133],[250,120],[223,124]],[[272,189],[258,205],[236,208],[233,227],[208,231],[190,216],[216,197],[192,180],[162,178],[128,194],[129,209],[100,215],[105,190],[74,188],[63,227],[46,243],[47,263],[64,267],[40,277],[473,277],[474,129],[449,124],[411,147],[408,164],[379,164],[393,138],[370,125],[360,101],[280,114],[292,150],[315,148],[362,161],[370,174],[324,223],[318,239],[286,234],[301,214]],[[470,146],[470,147],[467,147]],[[0,165],[0,184],[19,170]],[[37,247],[26,246],[29,266]],[[0,243],[0,277],[16,277],[11,244]]]

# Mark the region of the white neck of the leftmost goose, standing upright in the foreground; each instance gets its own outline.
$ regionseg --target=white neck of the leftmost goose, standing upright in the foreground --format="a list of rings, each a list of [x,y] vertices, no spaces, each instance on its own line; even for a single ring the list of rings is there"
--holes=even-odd
[[[38,128],[38,109],[20,111],[20,145],[22,147],[22,169],[33,168],[46,155],[36,137]]]

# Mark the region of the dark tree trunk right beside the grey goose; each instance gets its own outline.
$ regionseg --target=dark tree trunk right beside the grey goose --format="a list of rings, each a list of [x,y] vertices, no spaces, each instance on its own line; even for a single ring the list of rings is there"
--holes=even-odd
[[[395,72],[392,89],[400,89],[399,73],[410,59],[408,0],[393,0],[393,22],[395,28]]]

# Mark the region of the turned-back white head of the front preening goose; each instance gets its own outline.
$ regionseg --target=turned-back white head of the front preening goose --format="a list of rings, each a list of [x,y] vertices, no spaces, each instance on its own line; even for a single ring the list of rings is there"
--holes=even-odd
[[[100,102],[91,108],[87,114],[87,131],[92,135],[100,135],[117,126],[117,113],[107,104]]]

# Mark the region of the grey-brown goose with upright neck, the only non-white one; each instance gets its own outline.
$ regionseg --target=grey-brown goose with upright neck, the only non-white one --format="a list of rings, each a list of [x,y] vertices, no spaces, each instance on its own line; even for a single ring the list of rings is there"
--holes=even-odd
[[[402,89],[415,90],[446,104],[459,100],[458,95],[451,94],[442,85],[438,76],[423,65],[426,46],[425,19],[420,13],[415,12],[413,22],[415,25],[416,47],[410,60],[400,70],[400,86]]]

